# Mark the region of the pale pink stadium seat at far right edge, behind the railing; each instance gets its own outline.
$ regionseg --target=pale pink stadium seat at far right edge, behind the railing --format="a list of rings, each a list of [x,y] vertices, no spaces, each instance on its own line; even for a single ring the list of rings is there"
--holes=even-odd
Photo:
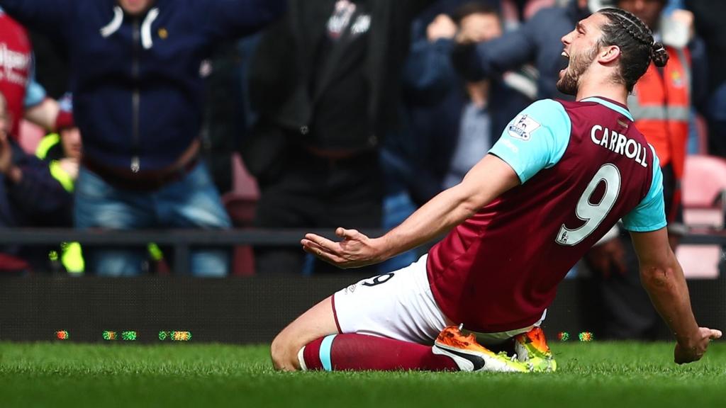
[[[726,160],[707,155],[687,156],[682,194],[683,216],[688,227],[723,228]],[[718,277],[722,256],[718,245],[680,245],[676,255],[686,277]]]

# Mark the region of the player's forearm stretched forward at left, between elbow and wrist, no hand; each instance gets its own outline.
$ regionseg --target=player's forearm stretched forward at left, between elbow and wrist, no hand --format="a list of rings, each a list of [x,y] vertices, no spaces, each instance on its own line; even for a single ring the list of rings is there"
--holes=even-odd
[[[398,227],[378,238],[383,256],[391,258],[416,248],[461,224],[480,208],[472,201],[460,186],[439,193]]]

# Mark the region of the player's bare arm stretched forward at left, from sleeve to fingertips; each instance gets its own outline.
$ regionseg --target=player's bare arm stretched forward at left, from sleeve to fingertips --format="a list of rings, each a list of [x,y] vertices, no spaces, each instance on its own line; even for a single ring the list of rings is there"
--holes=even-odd
[[[508,189],[519,177],[504,160],[486,155],[457,186],[446,189],[383,237],[370,238],[354,229],[338,228],[343,240],[316,234],[301,241],[306,252],[340,268],[358,268],[385,261],[448,232]]]

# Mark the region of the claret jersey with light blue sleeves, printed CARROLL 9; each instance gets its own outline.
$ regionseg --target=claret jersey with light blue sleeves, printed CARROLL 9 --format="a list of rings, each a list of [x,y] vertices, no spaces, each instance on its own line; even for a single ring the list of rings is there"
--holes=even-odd
[[[658,158],[624,105],[534,102],[489,154],[521,184],[454,228],[427,261],[436,302],[468,330],[537,322],[558,283],[620,219],[633,232],[666,226]]]

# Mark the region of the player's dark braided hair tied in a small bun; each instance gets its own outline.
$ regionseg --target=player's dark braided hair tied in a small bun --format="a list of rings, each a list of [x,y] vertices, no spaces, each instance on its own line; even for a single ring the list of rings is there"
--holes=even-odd
[[[666,47],[653,40],[653,33],[640,18],[623,9],[606,8],[597,13],[608,17],[608,23],[600,29],[603,37],[600,44],[603,46],[616,45],[620,48],[620,75],[628,91],[638,79],[648,70],[650,61],[656,67],[664,67],[668,62]]]

